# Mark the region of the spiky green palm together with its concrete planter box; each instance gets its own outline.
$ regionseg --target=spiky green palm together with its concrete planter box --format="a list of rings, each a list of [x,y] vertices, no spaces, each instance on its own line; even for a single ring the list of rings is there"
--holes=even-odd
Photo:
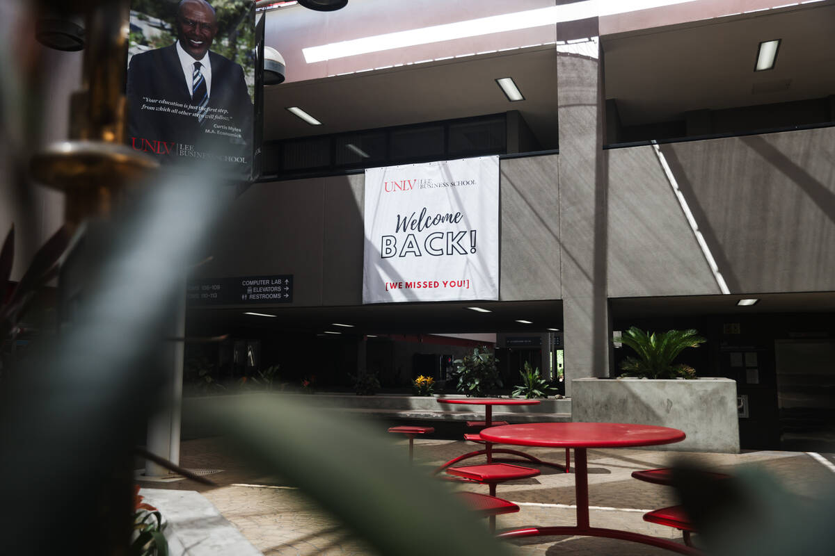
[[[635,355],[621,363],[619,378],[571,382],[571,419],[678,428],[686,440],[662,449],[738,453],[736,382],[697,377],[695,369],[676,363],[683,350],[705,341],[692,329],[649,333],[630,328],[620,342]]]

